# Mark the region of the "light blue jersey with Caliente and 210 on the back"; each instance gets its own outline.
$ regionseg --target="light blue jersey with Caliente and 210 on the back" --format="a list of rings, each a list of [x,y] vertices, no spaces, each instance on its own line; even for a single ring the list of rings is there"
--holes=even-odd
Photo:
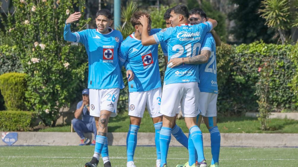
[[[168,60],[186,58],[197,55],[201,49],[204,36],[212,30],[212,23],[197,25],[183,24],[164,28],[153,35],[156,43],[166,42],[168,45]],[[164,85],[172,83],[199,82],[198,65],[181,64],[168,68],[164,75]]]

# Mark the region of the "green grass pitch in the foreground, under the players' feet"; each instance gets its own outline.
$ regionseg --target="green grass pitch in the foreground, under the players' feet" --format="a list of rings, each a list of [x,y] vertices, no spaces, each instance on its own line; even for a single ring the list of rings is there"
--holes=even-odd
[[[0,147],[0,166],[83,166],[93,155],[94,146],[13,146]],[[204,148],[207,163],[211,162],[210,147]],[[126,147],[109,146],[113,167],[126,166]],[[185,163],[184,147],[170,147],[167,163],[170,167]],[[138,167],[155,166],[155,147],[136,147],[135,164]],[[297,166],[298,148],[222,147],[221,167]],[[103,166],[102,160],[99,166]]]

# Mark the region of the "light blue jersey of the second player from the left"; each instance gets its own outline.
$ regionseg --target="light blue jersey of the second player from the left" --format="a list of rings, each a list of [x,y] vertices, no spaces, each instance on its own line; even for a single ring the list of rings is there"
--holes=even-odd
[[[150,35],[159,31],[160,29],[152,29]],[[157,52],[158,44],[143,46],[134,33],[122,42],[119,61],[122,65],[127,61],[129,64],[125,63],[126,69],[134,71],[134,79],[128,82],[129,92],[143,92],[161,87]]]

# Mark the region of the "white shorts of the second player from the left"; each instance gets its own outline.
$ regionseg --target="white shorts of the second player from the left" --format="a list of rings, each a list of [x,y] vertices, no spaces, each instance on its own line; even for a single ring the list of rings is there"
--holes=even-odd
[[[128,96],[128,115],[143,117],[145,106],[151,118],[159,117],[162,88],[156,88],[144,92],[130,92]]]

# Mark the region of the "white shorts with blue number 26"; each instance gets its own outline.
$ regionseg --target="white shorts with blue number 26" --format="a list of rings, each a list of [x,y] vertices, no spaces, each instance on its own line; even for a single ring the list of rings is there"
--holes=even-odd
[[[115,117],[119,91],[119,88],[89,89],[90,115],[100,117],[101,110],[108,110],[112,112],[111,117]]]

